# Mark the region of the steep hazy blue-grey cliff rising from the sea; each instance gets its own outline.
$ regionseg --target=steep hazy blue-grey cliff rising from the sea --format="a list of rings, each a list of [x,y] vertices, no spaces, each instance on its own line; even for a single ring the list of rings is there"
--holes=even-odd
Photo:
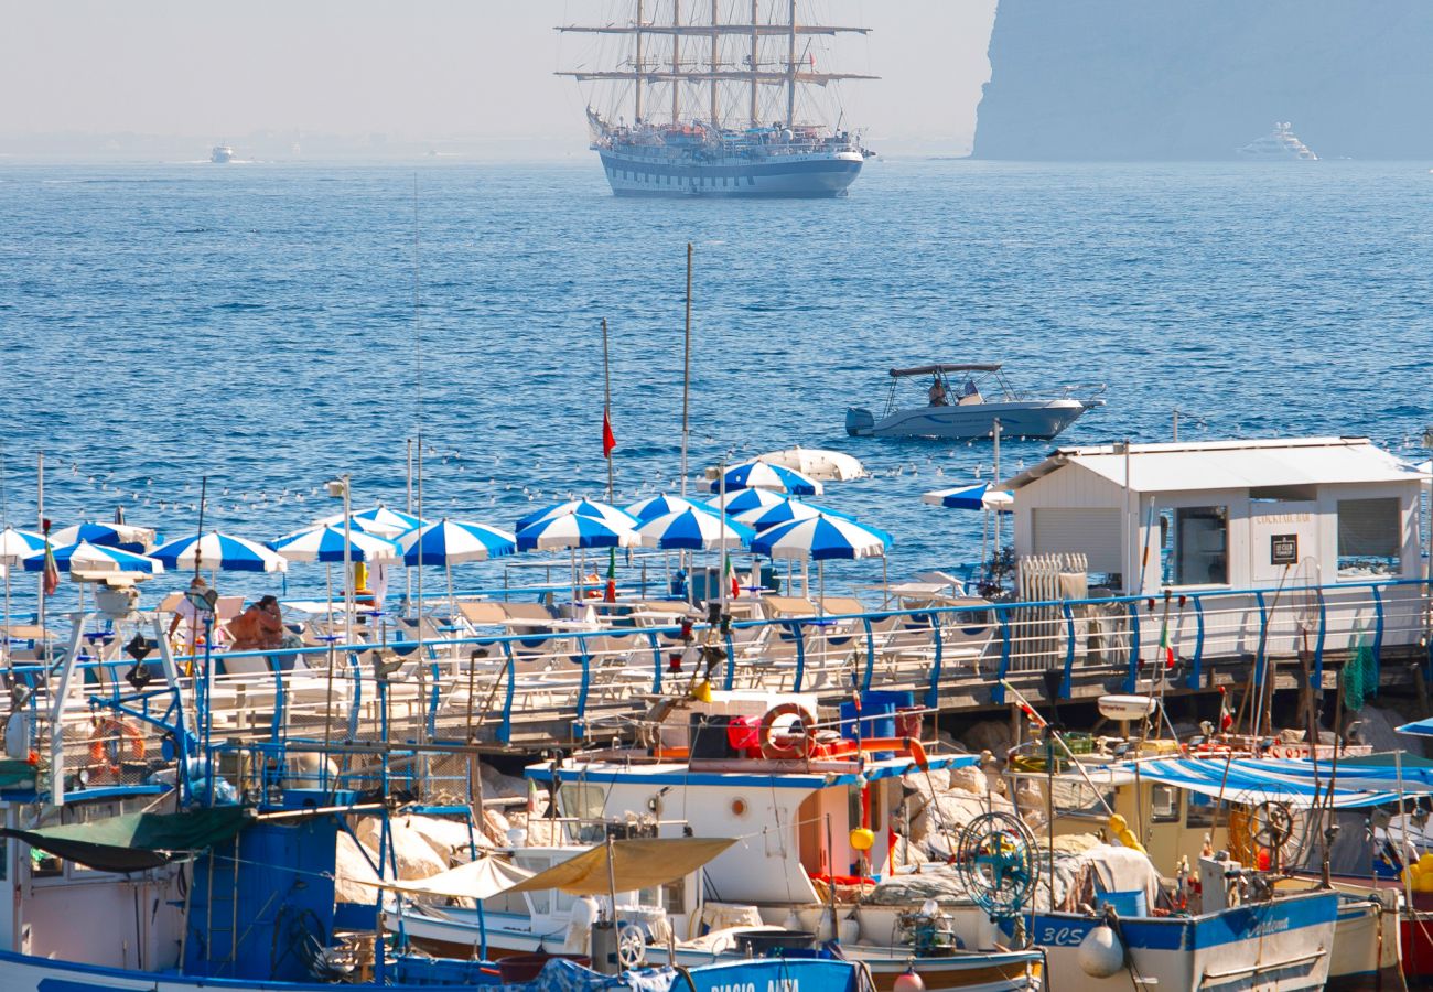
[[[1430,0],[1000,0],[974,155],[1433,158]]]

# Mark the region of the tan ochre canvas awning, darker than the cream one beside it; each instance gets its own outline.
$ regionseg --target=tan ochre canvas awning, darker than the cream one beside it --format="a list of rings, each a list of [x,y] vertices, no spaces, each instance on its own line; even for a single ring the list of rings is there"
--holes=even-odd
[[[688,874],[735,844],[734,837],[643,837],[613,840],[589,847],[562,864],[553,864],[520,882],[507,892],[543,892],[559,889],[570,896],[602,896],[609,892],[636,892],[685,879]],[[608,850],[612,872],[608,872]]]

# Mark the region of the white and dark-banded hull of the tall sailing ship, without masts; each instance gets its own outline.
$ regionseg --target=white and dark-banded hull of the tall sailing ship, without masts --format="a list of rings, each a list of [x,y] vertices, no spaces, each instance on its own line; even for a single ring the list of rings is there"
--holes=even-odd
[[[618,196],[841,196],[864,162],[858,152],[729,162],[681,162],[608,149],[599,155]]]

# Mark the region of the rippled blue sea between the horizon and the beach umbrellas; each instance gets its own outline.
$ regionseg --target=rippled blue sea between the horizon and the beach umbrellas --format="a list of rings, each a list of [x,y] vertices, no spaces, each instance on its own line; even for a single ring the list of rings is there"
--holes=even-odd
[[[619,502],[675,490],[688,241],[694,469],[792,443],[857,454],[876,477],[820,502],[891,530],[893,575],[979,555],[979,515],[920,493],[989,474],[992,452],[848,439],[847,404],[883,404],[891,366],[1108,383],[1068,444],[1166,440],[1178,407],[1182,437],[1367,434],[1426,457],[1413,446],[1433,420],[1427,163],[876,159],[850,198],[797,202],[616,199],[595,158],[9,163],[0,218],[0,444],[20,526],[40,447],[56,526],[123,503],[179,536],[203,474],[205,526],[258,539],[337,510],[317,487],[345,470],[355,505],[401,506],[421,423],[426,513],[512,528],[602,493],[603,317]],[[1003,467],[1050,447],[1009,443]],[[321,578],[297,565],[288,585]]]

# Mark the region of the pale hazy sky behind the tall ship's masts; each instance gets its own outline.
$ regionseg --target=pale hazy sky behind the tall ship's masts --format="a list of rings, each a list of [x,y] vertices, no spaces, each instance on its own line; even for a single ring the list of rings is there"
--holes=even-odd
[[[873,29],[838,52],[840,69],[881,76],[844,87],[845,120],[884,148],[969,149],[995,3],[813,4],[815,16]],[[573,153],[586,143],[586,95],[553,72],[580,43],[552,29],[625,9],[613,0],[6,0],[0,153],[100,153],[132,148],[135,135],[205,149],[226,140],[242,153],[264,132],[305,149],[330,136],[357,148]]]

